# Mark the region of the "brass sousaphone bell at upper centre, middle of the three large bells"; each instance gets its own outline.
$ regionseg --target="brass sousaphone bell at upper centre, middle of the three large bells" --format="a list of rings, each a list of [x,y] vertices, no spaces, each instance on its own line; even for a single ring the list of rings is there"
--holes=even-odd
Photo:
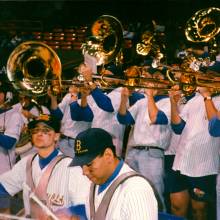
[[[123,28],[111,15],[100,16],[91,26],[91,36],[82,44],[82,53],[95,57],[96,65],[113,61],[121,50]]]

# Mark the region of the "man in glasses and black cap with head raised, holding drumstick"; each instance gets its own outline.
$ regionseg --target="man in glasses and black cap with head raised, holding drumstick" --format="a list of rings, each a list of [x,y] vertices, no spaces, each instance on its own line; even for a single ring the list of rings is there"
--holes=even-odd
[[[23,190],[26,216],[39,220],[49,218],[33,199],[34,194],[58,219],[70,219],[75,215],[86,219],[89,181],[80,167],[70,168],[71,158],[56,148],[60,121],[52,115],[41,115],[29,122],[28,128],[37,153],[22,158],[0,176],[0,198]]]

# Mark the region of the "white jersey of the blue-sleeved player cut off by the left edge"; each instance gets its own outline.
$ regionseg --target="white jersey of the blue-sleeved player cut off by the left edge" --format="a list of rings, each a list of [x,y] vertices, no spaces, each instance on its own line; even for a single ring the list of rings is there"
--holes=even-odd
[[[18,140],[22,127],[23,120],[21,118],[21,115],[14,109],[10,109],[0,114],[0,130],[2,134]],[[0,174],[10,170],[15,164],[15,160],[15,147],[10,150],[6,150],[2,146],[0,146]]]

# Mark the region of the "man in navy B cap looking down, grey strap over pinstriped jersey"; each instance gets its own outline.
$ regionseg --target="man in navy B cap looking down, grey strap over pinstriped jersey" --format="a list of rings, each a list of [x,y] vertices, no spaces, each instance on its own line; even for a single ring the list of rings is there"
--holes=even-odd
[[[111,134],[101,128],[87,129],[77,135],[75,152],[70,166],[81,166],[93,182],[86,203],[89,219],[158,219],[152,187],[136,172],[129,176],[134,170],[117,157]]]

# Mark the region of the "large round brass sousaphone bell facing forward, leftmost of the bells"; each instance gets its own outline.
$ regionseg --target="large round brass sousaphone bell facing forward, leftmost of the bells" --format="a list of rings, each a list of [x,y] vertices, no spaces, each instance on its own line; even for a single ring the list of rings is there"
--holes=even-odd
[[[10,54],[7,76],[13,87],[26,96],[45,95],[49,84],[58,93],[61,88],[61,62],[46,44],[26,41]]]

